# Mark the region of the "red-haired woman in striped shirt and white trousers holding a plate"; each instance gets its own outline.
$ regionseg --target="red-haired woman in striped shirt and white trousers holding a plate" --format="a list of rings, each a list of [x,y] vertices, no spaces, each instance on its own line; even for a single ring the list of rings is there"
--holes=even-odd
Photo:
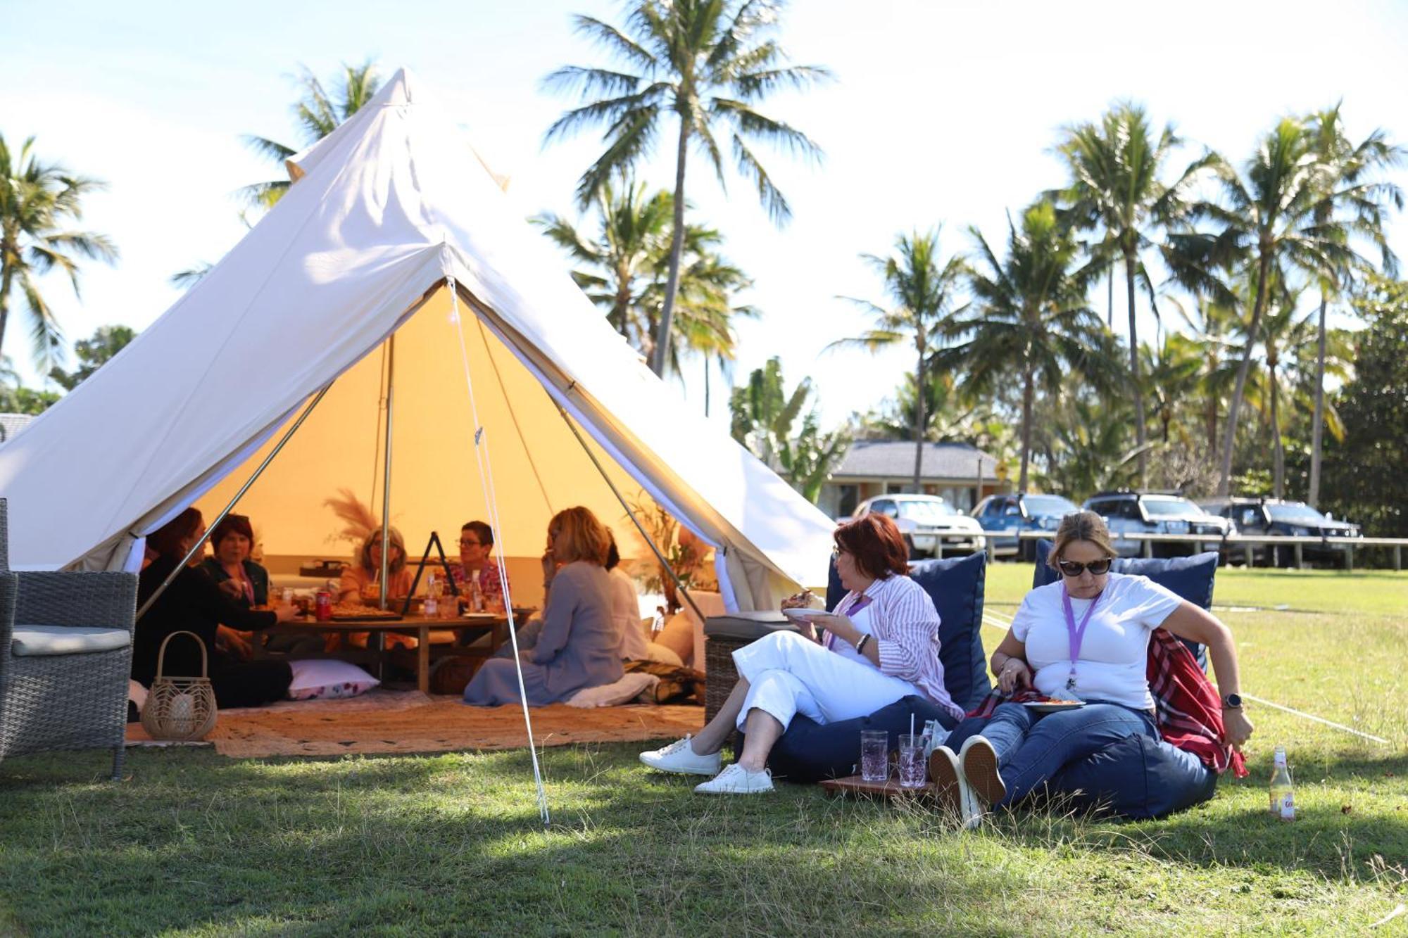
[[[773,790],[767,753],[798,713],[838,723],[921,694],[948,713],[949,727],[963,718],[943,686],[939,613],[905,576],[910,551],[894,521],[867,514],[832,537],[836,573],[849,590],[835,613],[817,613],[803,634],[779,631],[735,651],[738,683],[718,715],[697,737],[642,752],[641,762],[712,775],[694,789],[701,794],[752,794]],[[783,608],[801,606],[801,597],[783,601]],[[735,728],[746,734],[743,752],[719,772],[719,749]]]

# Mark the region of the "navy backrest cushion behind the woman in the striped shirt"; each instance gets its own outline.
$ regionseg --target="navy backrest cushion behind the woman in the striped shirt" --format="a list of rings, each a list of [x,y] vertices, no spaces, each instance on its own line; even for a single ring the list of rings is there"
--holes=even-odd
[[[942,561],[919,561],[910,568],[910,579],[924,587],[939,611],[939,663],[943,665],[943,686],[964,710],[983,701],[993,689],[987,677],[987,656],[983,652],[983,586],[987,577],[987,555],[979,551],[969,556]],[[846,594],[831,565],[826,584],[826,608],[836,608]]]

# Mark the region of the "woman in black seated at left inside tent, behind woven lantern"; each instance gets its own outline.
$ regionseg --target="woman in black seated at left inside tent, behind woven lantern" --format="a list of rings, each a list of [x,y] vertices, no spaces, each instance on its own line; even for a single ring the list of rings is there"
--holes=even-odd
[[[138,579],[137,604],[142,606],[182,562],[182,558],[206,537],[200,511],[186,508],[146,538],[156,559]],[[193,558],[193,563],[199,554]],[[252,611],[231,600],[215,582],[196,569],[182,568],[152,607],[137,621],[132,641],[132,677],[151,686],[156,676],[156,656],[162,641],[177,631],[190,631],[206,644],[210,680],[220,707],[258,707],[282,700],[289,693],[293,672],[286,661],[244,661],[248,644],[238,631],[269,628],[294,617],[291,606],[273,611]],[[179,635],[166,646],[163,673],[200,675],[200,649],[189,635]]]

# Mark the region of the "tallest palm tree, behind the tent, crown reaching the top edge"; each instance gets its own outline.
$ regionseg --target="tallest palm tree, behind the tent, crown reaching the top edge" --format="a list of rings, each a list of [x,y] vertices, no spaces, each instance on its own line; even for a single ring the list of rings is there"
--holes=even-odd
[[[724,146],[718,137],[727,134],[724,144],[738,172],[753,183],[777,224],[791,217],[791,208],[749,144],[766,141],[793,154],[821,158],[821,149],[805,134],[755,110],[774,90],[807,89],[829,77],[818,66],[783,65],[786,54],[769,37],[780,11],[781,4],[773,0],[634,0],[624,30],[577,15],[577,31],[621,59],[625,70],[569,65],[545,82],[556,90],[580,93],[584,101],[559,117],[545,141],[605,124],[605,152],[577,185],[577,203],[583,208],[612,176],[649,155],[669,115],[679,118],[670,263],[650,356],[656,375],[665,373],[673,335],[684,259],[684,169],[690,146],[698,146],[722,183]]]

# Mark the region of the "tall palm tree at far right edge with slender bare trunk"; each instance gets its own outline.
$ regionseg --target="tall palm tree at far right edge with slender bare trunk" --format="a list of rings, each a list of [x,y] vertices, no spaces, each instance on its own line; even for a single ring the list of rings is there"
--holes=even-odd
[[[1397,166],[1404,159],[1400,146],[1388,144],[1383,131],[1376,130],[1357,146],[1345,137],[1339,104],[1311,114],[1309,132],[1315,138],[1315,152],[1321,162],[1331,168],[1331,190],[1315,206],[1315,224],[1347,225],[1354,234],[1363,235],[1380,249],[1384,273],[1395,276],[1398,262],[1388,241],[1384,238],[1384,207],[1393,204],[1402,208],[1404,194],[1393,183],[1374,179],[1381,169]],[[1311,479],[1307,501],[1319,501],[1321,451],[1325,427],[1325,307],[1339,287],[1347,286],[1353,270],[1335,272],[1333,279],[1321,280],[1319,324],[1315,345],[1318,349],[1315,366],[1315,415],[1311,423]]]

